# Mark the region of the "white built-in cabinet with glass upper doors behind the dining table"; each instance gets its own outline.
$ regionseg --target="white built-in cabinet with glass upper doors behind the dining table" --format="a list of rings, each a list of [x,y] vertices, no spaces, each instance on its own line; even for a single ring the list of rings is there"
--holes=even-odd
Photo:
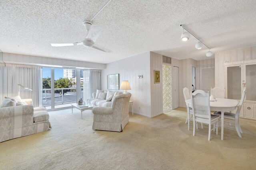
[[[224,63],[226,98],[240,100],[246,96],[240,117],[256,119],[256,60]]]

